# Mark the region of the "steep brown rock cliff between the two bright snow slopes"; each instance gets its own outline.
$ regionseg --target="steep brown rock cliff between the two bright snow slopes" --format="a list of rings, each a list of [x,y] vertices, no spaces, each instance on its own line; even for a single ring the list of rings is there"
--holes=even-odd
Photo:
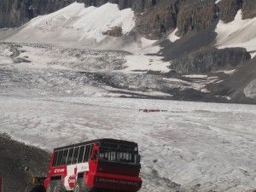
[[[146,38],[157,39],[167,31],[178,28],[177,35],[199,32],[217,23],[218,6],[215,1],[170,0],[156,3],[138,15],[137,32]]]

